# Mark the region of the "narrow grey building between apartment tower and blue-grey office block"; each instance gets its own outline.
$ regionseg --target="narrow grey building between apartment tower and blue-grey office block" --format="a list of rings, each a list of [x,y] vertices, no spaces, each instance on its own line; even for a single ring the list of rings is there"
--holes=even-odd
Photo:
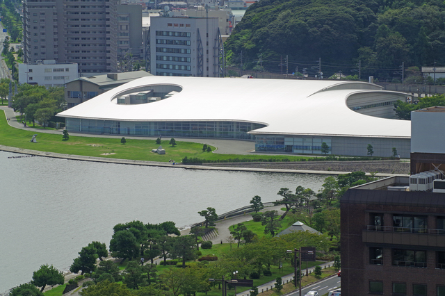
[[[142,46],[142,6],[140,4],[121,4],[118,6],[118,56],[131,52],[139,58]]]

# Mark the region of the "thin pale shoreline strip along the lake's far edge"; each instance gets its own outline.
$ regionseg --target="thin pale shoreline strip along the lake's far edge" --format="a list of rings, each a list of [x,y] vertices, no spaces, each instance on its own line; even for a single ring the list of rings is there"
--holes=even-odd
[[[128,160],[128,159],[119,159],[119,158],[101,158],[95,156],[81,156],[74,154],[59,154],[54,152],[47,151],[37,151],[31,149],[23,149],[17,147],[9,147],[0,145],[0,151],[19,153],[19,154],[28,154],[33,156],[43,156],[43,157],[52,157],[52,158],[62,158],[68,159],[72,161],[93,161],[96,163],[115,163],[120,165],[146,165],[153,167],[172,167],[172,168],[181,168],[186,170],[223,170],[223,171],[235,171],[235,172],[273,172],[280,174],[325,174],[325,175],[339,175],[339,174],[348,174],[350,172],[338,172],[331,170],[293,170],[293,169],[275,169],[275,168],[261,168],[261,167],[228,167],[224,165],[218,166],[207,166],[207,165],[172,165],[172,163],[159,163],[154,161],[136,161],[136,160]],[[369,172],[366,172],[366,175],[371,175]],[[387,174],[387,173],[377,173],[375,176],[387,177],[387,176],[400,176],[404,174]]]

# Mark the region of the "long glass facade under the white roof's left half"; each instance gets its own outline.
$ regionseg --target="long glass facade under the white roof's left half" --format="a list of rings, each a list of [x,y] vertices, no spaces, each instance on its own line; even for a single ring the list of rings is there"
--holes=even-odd
[[[253,140],[254,135],[248,131],[264,127],[264,124],[249,122],[124,122],[77,118],[67,118],[66,124],[72,132],[242,140]]]

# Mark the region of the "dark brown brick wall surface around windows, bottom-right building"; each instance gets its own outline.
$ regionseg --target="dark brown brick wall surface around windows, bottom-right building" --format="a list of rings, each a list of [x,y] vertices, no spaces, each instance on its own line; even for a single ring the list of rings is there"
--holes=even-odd
[[[421,295],[414,294],[413,285],[426,286],[427,292],[424,295],[438,295],[437,287],[445,285],[444,265],[439,265],[438,259],[438,252],[445,250],[445,230],[440,229],[443,227],[437,224],[438,217],[445,217],[445,208],[443,205],[422,206],[421,202],[418,202],[419,206],[403,204],[403,200],[410,193],[413,192],[350,189],[350,192],[347,192],[349,202],[343,202],[342,199],[341,294],[343,296]],[[378,194],[381,195],[380,199],[383,202],[379,203],[378,198],[370,202],[371,196]],[[444,195],[440,193],[419,192],[416,200],[423,201],[421,195],[426,199],[429,198],[431,202],[434,199],[444,199]],[[355,201],[351,200],[353,197]],[[394,204],[390,205],[391,201],[394,201]],[[383,226],[387,227],[385,231],[378,227],[369,230],[368,225],[373,224],[373,213],[382,215]],[[398,231],[393,231],[394,215],[425,216],[428,225],[425,231],[410,227],[396,228]],[[372,248],[382,249],[382,261],[373,259]],[[396,250],[425,252],[426,260],[423,262],[419,258],[407,258],[407,261],[396,261]],[[371,293],[370,285],[373,282],[382,283],[382,293]],[[404,284],[406,294],[394,294],[394,283]]]

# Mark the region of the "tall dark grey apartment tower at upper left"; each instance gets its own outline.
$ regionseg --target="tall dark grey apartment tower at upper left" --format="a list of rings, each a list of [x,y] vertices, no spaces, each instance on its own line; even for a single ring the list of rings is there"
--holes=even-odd
[[[79,74],[118,69],[118,0],[26,0],[24,62],[77,63]]]

